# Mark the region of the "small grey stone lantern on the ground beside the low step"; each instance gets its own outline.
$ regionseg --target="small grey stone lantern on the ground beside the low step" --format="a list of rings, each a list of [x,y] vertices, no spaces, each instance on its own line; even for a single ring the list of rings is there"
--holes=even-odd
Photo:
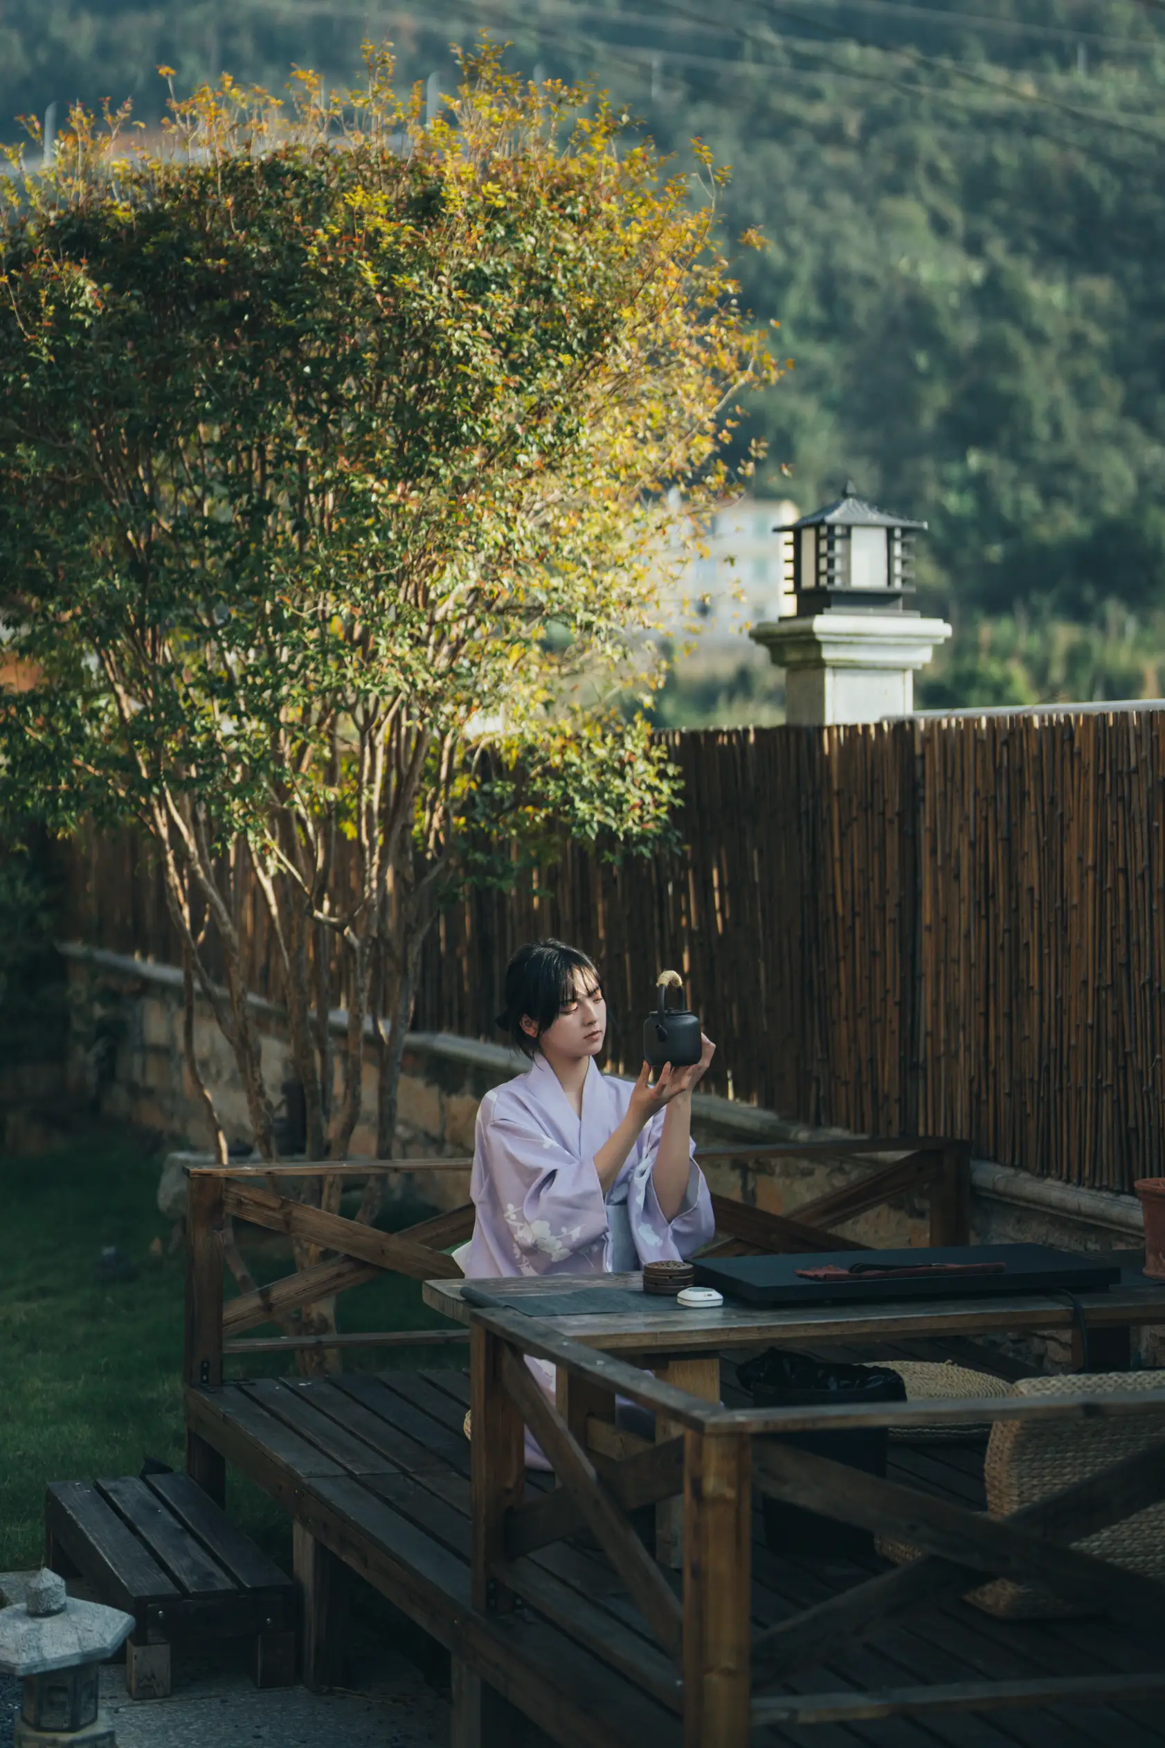
[[[0,1673],[24,1682],[14,1748],[117,1748],[101,1715],[101,1664],[133,1633],[133,1615],[79,1603],[47,1568],[23,1603],[0,1610]]]

